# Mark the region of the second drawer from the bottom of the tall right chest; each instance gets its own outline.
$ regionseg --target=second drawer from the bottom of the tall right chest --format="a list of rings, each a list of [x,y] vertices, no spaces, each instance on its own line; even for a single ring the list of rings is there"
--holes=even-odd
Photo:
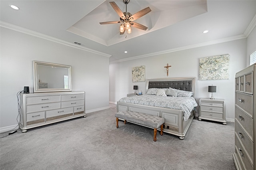
[[[244,145],[244,149],[248,152],[248,157],[250,158],[250,160],[253,160],[253,142],[252,140],[250,140],[250,138],[247,136],[247,134],[244,132],[244,130],[237,121],[235,121],[235,133]]]

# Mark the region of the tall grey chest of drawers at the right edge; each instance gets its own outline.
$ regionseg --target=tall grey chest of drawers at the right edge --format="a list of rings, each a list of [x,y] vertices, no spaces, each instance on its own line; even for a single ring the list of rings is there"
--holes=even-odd
[[[235,77],[235,152],[237,170],[256,170],[256,65],[236,73]]]

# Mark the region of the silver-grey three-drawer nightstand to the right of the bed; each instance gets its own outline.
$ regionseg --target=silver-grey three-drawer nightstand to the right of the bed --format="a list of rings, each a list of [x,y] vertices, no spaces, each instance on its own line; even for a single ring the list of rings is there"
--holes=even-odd
[[[205,119],[209,121],[222,122],[223,125],[227,124],[226,102],[224,99],[211,100],[209,98],[201,98],[199,103],[199,121]]]

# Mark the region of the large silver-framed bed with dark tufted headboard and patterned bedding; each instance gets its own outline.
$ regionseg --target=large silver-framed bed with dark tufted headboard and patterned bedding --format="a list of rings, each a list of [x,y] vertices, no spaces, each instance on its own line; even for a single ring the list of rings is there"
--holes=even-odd
[[[166,98],[180,99],[182,97],[154,95],[156,89],[162,90],[182,90],[184,93],[192,94],[191,97],[183,97],[186,103],[194,103],[194,105],[185,107],[171,107],[172,102],[162,100]],[[161,90],[161,91],[162,91]],[[158,90],[157,90],[158,91]],[[151,92],[154,92],[151,94]],[[159,92],[159,91],[158,91]],[[148,101],[150,97],[154,97],[154,101]],[[147,79],[146,95],[138,95],[132,97],[124,97],[117,102],[117,112],[134,111],[150,115],[156,115],[165,119],[163,131],[184,139],[188,128],[190,127],[196,112],[196,77],[179,77],[167,79]],[[160,104],[156,101],[160,101]],[[147,103],[147,104],[146,104]],[[151,104],[148,104],[151,103]],[[167,105],[167,108],[166,108]],[[175,105],[175,104],[174,104]],[[183,104],[181,104],[183,105]],[[192,108],[191,108],[192,107]],[[160,129],[158,129],[160,130]]]

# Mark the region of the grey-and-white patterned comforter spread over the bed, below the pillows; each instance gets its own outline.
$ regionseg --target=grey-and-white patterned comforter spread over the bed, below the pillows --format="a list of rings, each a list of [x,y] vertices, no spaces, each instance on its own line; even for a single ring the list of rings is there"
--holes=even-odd
[[[134,103],[139,105],[148,105],[155,107],[164,107],[170,109],[178,109],[184,111],[184,120],[190,117],[190,112],[197,107],[194,97],[170,97],[156,95],[139,95],[132,97],[123,97],[119,100],[125,103]]]

